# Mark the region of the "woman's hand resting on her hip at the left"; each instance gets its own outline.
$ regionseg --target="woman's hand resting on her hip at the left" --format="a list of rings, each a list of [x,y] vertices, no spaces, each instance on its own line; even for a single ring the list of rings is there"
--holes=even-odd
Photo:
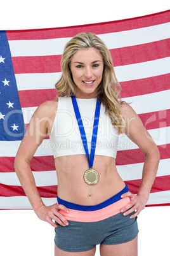
[[[45,222],[48,222],[53,227],[58,227],[58,224],[65,227],[66,225],[69,225],[69,222],[67,222],[59,210],[63,210],[66,213],[69,213],[69,210],[62,204],[53,204],[51,206],[42,205],[39,210],[34,211],[37,217],[39,217],[41,220],[44,220]],[[55,222],[58,224],[55,224],[53,220],[55,220]]]

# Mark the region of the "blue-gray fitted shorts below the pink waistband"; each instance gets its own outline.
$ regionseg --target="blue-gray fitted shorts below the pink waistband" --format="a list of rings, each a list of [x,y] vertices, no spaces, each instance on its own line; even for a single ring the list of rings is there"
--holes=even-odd
[[[131,213],[132,215],[133,213]],[[98,222],[75,222],[55,228],[55,245],[66,252],[85,252],[96,245],[117,245],[133,240],[138,235],[137,217],[118,213]]]

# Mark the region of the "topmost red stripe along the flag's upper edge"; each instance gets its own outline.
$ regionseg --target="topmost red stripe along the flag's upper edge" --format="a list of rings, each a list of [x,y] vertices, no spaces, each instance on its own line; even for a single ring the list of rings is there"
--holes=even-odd
[[[169,10],[143,17],[128,18],[113,22],[101,22],[97,24],[77,25],[70,27],[58,27],[54,29],[30,29],[25,31],[6,31],[8,40],[30,40],[48,38],[67,38],[75,36],[79,32],[93,32],[104,34],[110,32],[139,29],[152,25],[163,24],[170,21]]]

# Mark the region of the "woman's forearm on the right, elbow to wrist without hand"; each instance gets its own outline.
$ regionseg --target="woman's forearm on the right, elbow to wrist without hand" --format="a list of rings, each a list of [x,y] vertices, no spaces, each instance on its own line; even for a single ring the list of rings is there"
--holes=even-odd
[[[140,188],[138,190],[138,195],[143,196],[146,201],[150,194],[150,190],[154,183],[155,177],[157,175],[157,169],[159,166],[160,154],[159,150],[155,147],[154,150],[145,155],[145,163],[143,166],[143,174],[141,179]]]

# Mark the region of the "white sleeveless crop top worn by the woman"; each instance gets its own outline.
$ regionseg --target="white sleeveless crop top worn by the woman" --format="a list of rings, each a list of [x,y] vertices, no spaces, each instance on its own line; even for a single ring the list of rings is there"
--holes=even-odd
[[[96,98],[77,99],[77,104],[81,113],[90,152]],[[111,124],[110,117],[105,114],[105,106],[101,104],[95,155],[115,158],[118,137],[117,129]],[[49,141],[55,158],[65,155],[86,154],[82,145],[71,97],[58,97],[58,107]]]

